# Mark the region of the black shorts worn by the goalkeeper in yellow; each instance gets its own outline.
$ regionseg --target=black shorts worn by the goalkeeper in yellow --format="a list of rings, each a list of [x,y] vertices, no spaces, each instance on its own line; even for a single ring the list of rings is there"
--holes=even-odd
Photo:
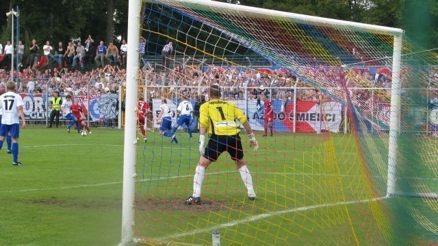
[[[239,134],[232,136],[211,135],[205,148],[204,157],[212,162],[216,162],[223,151],[227,151],[231,160],[241,160],[244,158],[242,140]]]

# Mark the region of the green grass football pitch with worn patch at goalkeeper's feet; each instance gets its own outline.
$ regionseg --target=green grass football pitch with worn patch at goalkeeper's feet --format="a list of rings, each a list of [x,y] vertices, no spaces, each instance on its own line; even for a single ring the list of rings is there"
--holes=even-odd
[[[209,245],[218,228],[223,245],[385,243],[382,207],[370,201],[380,190],[372,194],[351,135],[257,136],[253,153],[242,134],[257,201],[246,199],[225,154],[207,169],[205,204],[195,207],[182,203],[192,193],[198,134],[177,136],[175,145],[148,132],[148,143],[138,145],[136,236]],[[117,245],[123,138],[123,130],[92,128],[83,137],[29,126],[21,130],[21,167],[12,166],[3,145],[0,245]],[[374,171],[372,180],[385,188],[385,171]]]

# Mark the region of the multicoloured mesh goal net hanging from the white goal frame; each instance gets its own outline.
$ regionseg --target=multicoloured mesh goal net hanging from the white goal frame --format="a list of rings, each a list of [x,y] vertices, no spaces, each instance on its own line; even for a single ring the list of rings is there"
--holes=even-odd
[[[137,149],[136,241],[211,245],[217,231],[222,245],[437,243],[435,53],[400,29],[216,1],[144,1],[140,17],[139,83],[155,131]],[[259,143],[254,152],[240,125],[255,201],[222,153],[205,170],[201,204],[184,204],[198,121],[171,143],[160,106],[166,99],[175,125],[179,103],[196,106],[213,84]]]

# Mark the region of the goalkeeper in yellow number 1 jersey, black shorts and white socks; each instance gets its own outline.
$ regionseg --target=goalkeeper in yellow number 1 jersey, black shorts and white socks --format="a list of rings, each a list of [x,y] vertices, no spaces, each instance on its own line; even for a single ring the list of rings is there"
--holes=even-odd
[[[185,200],[184,204],[201,204],[201,186],[204,180],[205,169],[211,162],[216,162],[220,154],[227,151],[235,161],[237,170],[248,190],[248,199],[255,200],[253,179],[246,167],[242,141],[239,128],[235,120],[239,120],[248,134],[249,144],[257,151],[257,140],[246,119],[245,114],[234,103],[220,100],[219,86],[209,88],[210,100],[203,103],[199,109],[199,158],[193,177],[193,194]],[[204,148],[205,133],[208,132],[209,140]]]

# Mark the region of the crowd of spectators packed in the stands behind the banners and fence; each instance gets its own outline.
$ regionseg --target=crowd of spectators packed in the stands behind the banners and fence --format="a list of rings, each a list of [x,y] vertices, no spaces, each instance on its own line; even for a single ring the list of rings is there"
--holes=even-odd
[[[122,40],[120,47],[113,43],[105,46],[103,41],[94,45],[94,42],[88,36],[83,42],[70,40],[66,47],[63,42],[52,47],[47,40],[41,50],[36,40],[31,40],[28,47],[20,42],[14,56],[20,64],[19,92],[51,93],[57,90],[74,96],[118,93],[118,86],[126,73],[127,42]],[[140,38],[140,56],[145,45],[144,38]],[[10,41],[6,42],[4,49],[0,45],[0,89],[11,77],[11,49]],[[25,49],[29,51],[27,56],[24,56]],[[385,67],[344,69],[309,64],[297,66],[294,73],[290,73],[285,69],[214,66],[189,59],[191,63],[172,60],[174,65],[169,67],[142,60],[139,78],[140,84],[148,87],[150,94],[146,98],[176,98],[184,90],[190,93],[191,99],[198,99],[205,94],[205,88],[217,84],[222,88],[223,99],[251,100],[263,93],[271,100],[290,101],[294,97],[294,88],[298,88],[297,99],[302,101],[344,99],[348,91],[352,102],[369,113],[377,103],[389,103],[391,71]],[[433,73],[430,77],[437,79],[435,75],[438,73]]]

